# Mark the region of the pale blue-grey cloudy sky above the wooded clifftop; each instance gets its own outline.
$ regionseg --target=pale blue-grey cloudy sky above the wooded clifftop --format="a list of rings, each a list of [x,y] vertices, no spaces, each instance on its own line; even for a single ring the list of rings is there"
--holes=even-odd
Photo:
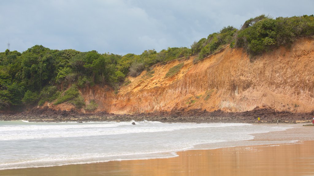
[[[314,0],[0,0],[0,52],[50,49],[141,54],[190,47],[261,14],[311,15]]]

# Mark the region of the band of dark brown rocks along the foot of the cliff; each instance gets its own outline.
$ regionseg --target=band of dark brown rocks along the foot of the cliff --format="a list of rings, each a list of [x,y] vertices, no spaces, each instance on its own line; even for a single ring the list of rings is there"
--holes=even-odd
[[[127,121],[159,121],[159,122],[228,122],[256,123],[257,117],[262,123],[295,123],[296,120],[311,120],[314,112],[293,113],[276,111],[269,108],[256,107],[252,111],[225,112],[220,109],[208,112],[194,109],[185,111],[183,108],[172,111],[148,112],[139,114],[112,114],[107,112],[80,113],[76,111],[55,111],[48,107],[33,108],[28,112],[0,113],[0,120],[28,120],[30,122],[127,122]]]

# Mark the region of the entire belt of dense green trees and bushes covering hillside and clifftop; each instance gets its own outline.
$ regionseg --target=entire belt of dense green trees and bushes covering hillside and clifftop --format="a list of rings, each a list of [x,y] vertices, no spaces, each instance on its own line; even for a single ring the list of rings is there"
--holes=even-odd
[[[108,85],[117,93],[121,85],[130,82],[126,79],[128,75],[135,77],[156,63],[190,56],[195,56],[194,62],[198,62],[227,45],[244,48],[254,59],[276,47],[289,47],[301,37],[314,37],[313,15],[275,19],[261,15],[247,20],[240,29],[224,27],[195,41],[191,48],[145,50],[139,55],[53,50],[41,45],[22,53],[7,49],[0,53],[0,109],[67,101],[92,111],[97,104],[90,102],[85,106],[78,91],[86,86]]]

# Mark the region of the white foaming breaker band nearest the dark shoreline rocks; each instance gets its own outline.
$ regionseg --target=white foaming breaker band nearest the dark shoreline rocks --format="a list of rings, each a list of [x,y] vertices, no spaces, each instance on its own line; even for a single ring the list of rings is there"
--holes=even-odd
[[[1,140],[20,140],[35,138],[54,138],[54,137],[86,137],[118,135],[129,133],[145,132],[165,132],[181,129],[208,128],[208,127],[230,127],[245,126],[250,124],[243,123],[213,123],[213,124],[162,124],[161,122],[132,122],[104,123],[104,124],[84,124],[84,125],[16,125],[0,127]],[[156,124],[162,124],[156,126]],[[118,128],[119,127],[119,128]],[[1,134],[2,132],[2,134]]]

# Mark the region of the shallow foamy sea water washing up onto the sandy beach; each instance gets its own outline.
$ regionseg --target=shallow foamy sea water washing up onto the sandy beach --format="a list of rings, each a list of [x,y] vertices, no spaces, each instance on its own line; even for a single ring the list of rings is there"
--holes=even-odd
[[[230,147],[234,142],[253,139],[254,133],[282,131],[293,127],[148,121],[132,125],[132,122],[0,121],[0,170],[169,158],[175,157],[176,151]],[[264,143],[265,141],[256,144]]]

